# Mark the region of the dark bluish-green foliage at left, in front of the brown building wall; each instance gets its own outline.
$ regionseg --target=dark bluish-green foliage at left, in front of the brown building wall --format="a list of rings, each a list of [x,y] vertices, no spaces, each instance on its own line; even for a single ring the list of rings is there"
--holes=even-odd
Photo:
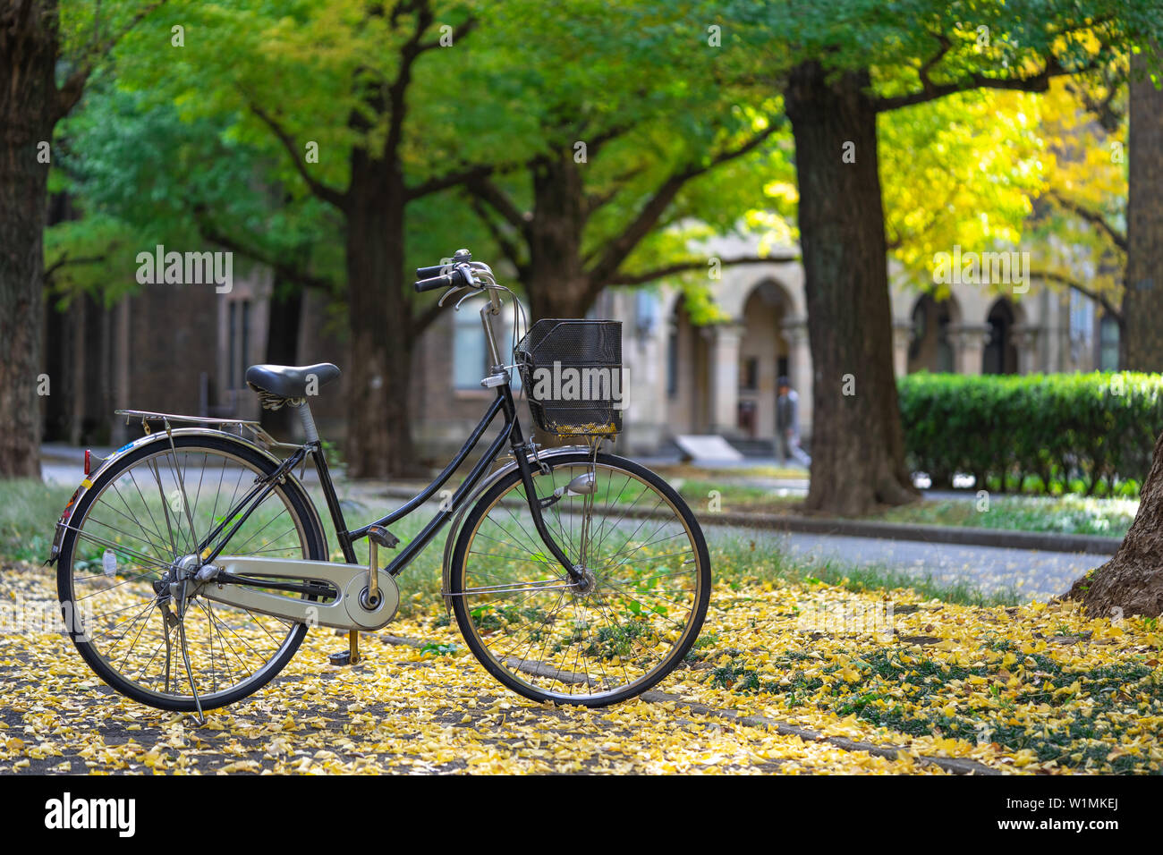
[[[84,213],[45,233],[63,299],[87,291],[112,302],[137,287],[137,252],[201,248],[213,233],[324,280],[342,270],[330,212],[280,193],[273,157],[234,138],[227,119],[183,121],[172,104],[102,79],[63,124],[60,148],[55,179]]]

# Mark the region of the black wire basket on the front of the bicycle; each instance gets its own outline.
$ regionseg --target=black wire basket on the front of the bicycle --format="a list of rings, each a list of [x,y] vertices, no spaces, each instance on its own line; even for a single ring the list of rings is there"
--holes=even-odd
[[[513,349],[533,420],[558,436],[622,429],[622,322],[543,318]]]

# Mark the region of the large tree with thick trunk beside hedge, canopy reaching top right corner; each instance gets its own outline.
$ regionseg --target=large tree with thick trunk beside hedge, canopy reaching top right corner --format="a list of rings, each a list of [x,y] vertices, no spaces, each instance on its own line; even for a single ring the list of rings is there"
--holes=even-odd
[[[708,5],[775,80],[795,140],[814,415],[807,506],[841,514],[915,498],[892,365],[882,114],[980,88],[1044,92],[1160,23],[1155,2],[809,0]]]

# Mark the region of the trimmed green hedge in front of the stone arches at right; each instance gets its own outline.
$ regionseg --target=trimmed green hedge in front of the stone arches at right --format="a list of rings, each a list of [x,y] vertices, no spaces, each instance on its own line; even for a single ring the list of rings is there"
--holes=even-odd
[[[1163,376],[909,375],[898,382],[913,471],[934,486],[1136,493],[1163,432]]]

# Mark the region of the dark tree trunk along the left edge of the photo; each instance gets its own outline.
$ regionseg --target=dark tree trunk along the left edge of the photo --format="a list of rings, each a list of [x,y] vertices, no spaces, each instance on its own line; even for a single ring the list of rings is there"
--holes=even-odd
[[[38,478],[49,165],[37,154],[57,121],[59,44],[56,2],[21,7],[0,9],[0,477]]]

